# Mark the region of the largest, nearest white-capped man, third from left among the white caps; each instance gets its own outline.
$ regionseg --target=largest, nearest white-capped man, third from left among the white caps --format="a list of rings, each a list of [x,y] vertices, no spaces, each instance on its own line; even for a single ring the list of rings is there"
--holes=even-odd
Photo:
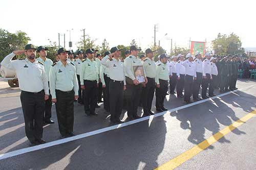
[[[193,64],[193,56],[190,53],[186,55],[186,59],[182,65],[186,69],[186,76],[184,78],[184,102],[191,103],[190,96],[193,92],[193,79],[195,76],[195,66]]]

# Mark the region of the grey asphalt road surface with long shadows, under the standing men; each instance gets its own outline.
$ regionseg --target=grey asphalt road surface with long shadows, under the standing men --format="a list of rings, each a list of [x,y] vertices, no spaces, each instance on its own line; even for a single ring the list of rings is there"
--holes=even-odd
[[[0,160],[0,169],[154,169],[190,150],[223,128],[239,122],[256,109],[256,83],[239,80],[239,90],[201,104],[146,119],[107,132],[53,145]],[[216,94],[219,94],[216,90]],[[155,102],[155,99],[154,99]],[[19,90],[0,80],[0,154],[28,148]],[[154,104],[153,104],[154,105]],[[183,106],[175,95],[166,96],[165,106]],[[139,108],[141,112],[142,108]],[[153,109],[154,110],[154,109]],[[55,124],[44,127],[47,142],[59,139]],[[101,108],[99,116],[86,117],[75,103],[74,133],[110,127]],[[256,115],[256,114],[255,114]],[[126,119],[126,113],[122,119]],[[240,121],[241,122],[241,121]],[[255,169],[255,116],[176,169]],[[26,149],[25,149],[26,150]],[[1,159],[1,156],[0,156]]]

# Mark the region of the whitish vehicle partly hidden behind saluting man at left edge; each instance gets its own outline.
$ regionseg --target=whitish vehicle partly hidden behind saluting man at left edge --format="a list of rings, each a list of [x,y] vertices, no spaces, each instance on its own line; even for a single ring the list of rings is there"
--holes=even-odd
[[[0,73],[2,78],[8,80],[8,84],[10,87],[18,87],[18,79],[15,70],[8,69],[1,65]]]

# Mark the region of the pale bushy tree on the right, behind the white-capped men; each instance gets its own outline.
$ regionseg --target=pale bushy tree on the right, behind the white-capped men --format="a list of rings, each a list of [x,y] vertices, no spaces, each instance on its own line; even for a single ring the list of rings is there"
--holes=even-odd
[[[242,42],[234,33],[231,33],[230,35],[221,35],[218,34],[217,38],[213,41],[211,41],[212,48],[215,51],[215,54],[217,55],[227,55],[227,54],[238,54],[243,53],[244,48],[242,48]]]

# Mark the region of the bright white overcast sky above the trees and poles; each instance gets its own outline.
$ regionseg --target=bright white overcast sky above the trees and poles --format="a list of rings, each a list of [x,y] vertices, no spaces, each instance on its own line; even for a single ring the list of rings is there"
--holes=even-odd
[[[30,1],[1,0],[0,28],[11,33],[24,31],[34,45],[58,44],[58,33],[66,34],[73,50],[82,29],[100,45],[130,45],[132,39],[142,50],[154,44],[154,25],[158,25],[156,41],[169,53],[170,39],[181,47],[191,41],[205,41],[210,46],[218,33],[237,34],[243,47],[256,47],[256,1]],[[73,29],[73,30],[72,30]],[[165,35],[167,34],[167,35]],[[63,46],[63,36],[60,36]]]

